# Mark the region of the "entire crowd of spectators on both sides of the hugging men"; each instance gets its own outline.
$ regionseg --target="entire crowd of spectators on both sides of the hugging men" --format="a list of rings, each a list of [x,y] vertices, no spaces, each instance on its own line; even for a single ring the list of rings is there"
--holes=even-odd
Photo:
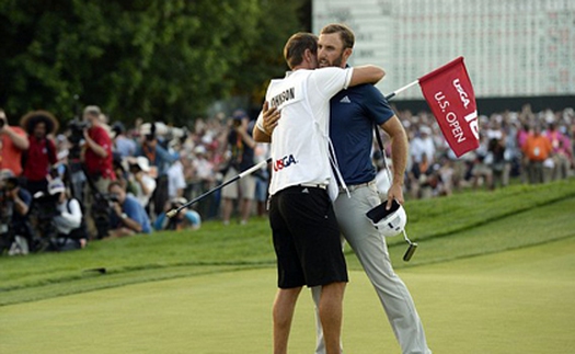
[[[531,112],[526,105],[521,112],[482,115],[480,148],[459,159],[433,115],[400,111],[398,116],[410,138],[409,198],[464,187],[493,190],[514,178],[545,183],[573,175],[572,109]],[[251,138],[254,118],[237,110],[230,116],[198,117],[189,127],[141,118],[126,127],[108,122],[100,107],[87,106],[82,119],[66,125],[46,111],[10,125],[0,110],[2,252],[82,249],[95,239],[195,230],[207,219],[243,225],[252,215],[265,215],[265,168],[184,208],[268,157],[267,145]],[[389,181],[378,150],[375,145],[383,193]],[[176,217],[166,217],[179,207]]]

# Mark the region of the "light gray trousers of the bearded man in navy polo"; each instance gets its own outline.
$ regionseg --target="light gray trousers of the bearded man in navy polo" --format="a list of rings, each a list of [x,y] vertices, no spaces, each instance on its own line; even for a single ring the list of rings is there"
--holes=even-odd
[[[393,272],[386,238],[371,225],[366,213],[381,203],[375,183],[350,186],[352,197],[340,193],[334,202],[337,222],[345,240],[349,243],[379,300],[403,354],[430,354],[422,321],[412,296],[402,279]],[[321,287],[312,288],[313,301],[318,308]],[[315,316],[318,319],[318,316]],[[322,328],[317,321],[318,345],[315,354],[325,354]],[[375,339],[376,340],[376,339]]]

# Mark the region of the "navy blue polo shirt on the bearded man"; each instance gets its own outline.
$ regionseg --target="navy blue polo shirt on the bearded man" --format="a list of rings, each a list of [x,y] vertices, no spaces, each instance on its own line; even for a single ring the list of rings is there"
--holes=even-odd
[[[371,162],[373,122],[381,125],[394,112],[372,84],[340,91],[330,101],[330,137],[346,184],[367,183],[376,178]]]

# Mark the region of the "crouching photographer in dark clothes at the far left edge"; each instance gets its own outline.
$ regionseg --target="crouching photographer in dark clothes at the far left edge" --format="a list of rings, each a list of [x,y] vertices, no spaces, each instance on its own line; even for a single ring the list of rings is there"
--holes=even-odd
[[[19,185],[11,170],[0,171],[0,236],[1,250],[11,247],[10,254],[26,254],[33,248],[33,232],[28,222],[32,195]],[[18,239],[16,239],[18,237]],[[25,242],[23,240],[25,239]]]

